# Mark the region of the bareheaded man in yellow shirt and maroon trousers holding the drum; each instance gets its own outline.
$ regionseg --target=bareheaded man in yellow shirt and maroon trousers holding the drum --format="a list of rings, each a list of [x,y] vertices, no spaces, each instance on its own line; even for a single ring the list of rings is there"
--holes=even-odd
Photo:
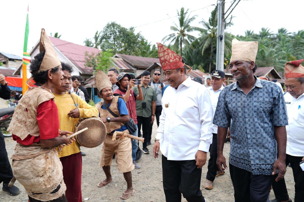
[[[71,65],[63,62],[61,62],[61,66],[64,79],[61,80],[61,85],[55,87],[52,92],[58,108],[60,120],[59,129],[61,131],[73,132],[79,117],[98,117],[98,110],[83,101],[77,94],[69,94],[68,91],[71,88],[70,82],[73,68]],[[62,151],[59,151],[58,155],[63,167],[63,180],[67,186],[65,197],[68,202],[81,202],[82,156],[80,154],[79,144],[74,141],[71,145],[65,146]]]

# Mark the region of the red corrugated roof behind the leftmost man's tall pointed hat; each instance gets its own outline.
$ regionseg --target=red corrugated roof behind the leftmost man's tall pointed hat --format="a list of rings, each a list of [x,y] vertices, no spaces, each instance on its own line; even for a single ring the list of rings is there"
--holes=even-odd
[[[54,47],[56,47],[65,57],[67,57],[77,68],[79,68],[82,74],[92,74],[93,68],[85,67],[85,52],[87,51],[89,54],[99,53],[99,49],[74,44],[50,36],[49,38]]]

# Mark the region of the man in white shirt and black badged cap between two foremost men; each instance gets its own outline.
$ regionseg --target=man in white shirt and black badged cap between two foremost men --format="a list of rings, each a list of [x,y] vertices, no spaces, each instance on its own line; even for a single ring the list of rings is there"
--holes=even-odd
[[[210,98],[212,102],[213,108],[213,116],[216,110],[217,101],[219,100],[220,92],[225,88],[223,86],[223,82],[225,81],[225,72],[221,70],[214,70],[211,74],[211,84],[212,87],[207,88],[210,93]],[[213,117],[212,116],[212,117]],[[209,152],[210,152],[210,159],[208,161],[208,172],[206,175],[206,182],[204,185],[205,189],[212,189],[213,188],[213,181],[215,177],[222,175],[221,172],[217,170],[216,165],[216,158],[217,158],[217,125],[213,125],[213,132],[212,132],[212,144],[210,145]]]

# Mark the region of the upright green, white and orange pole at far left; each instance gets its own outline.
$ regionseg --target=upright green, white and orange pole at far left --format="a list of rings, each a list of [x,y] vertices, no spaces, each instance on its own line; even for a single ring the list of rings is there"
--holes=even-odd
[[[31,56],[27,52],[27,40],[29,38],[29,5],[27,5],[26,25],[24,33],[24,44],[23,44],[23,58],[22,58],[22,94],[27,91],[27,69],[26,66],[31,60]]]

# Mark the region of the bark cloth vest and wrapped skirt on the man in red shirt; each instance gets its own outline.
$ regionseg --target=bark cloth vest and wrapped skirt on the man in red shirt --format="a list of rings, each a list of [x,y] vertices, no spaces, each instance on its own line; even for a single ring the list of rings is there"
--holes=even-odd
[[[50,90],[43,87],[29,88],[16,106],[8,131],[21,140],[29,134],[38,137],[37,108],[50,99],[54,99]],[[12,170],[33,199],[49,201],[65,193],[62,164],[55,147],[45,148],[40,142],[29,146],[17,143],[12,155]],[[59,185],[60,189],[52,193]]]

